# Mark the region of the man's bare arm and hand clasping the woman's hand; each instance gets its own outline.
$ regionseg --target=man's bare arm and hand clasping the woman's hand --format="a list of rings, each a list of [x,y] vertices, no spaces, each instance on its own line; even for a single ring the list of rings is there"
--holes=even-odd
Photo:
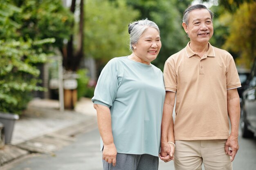
[[[175,143],[173,133],[173,107],[175,103],[175,92],[166,91],[163,117],[161,124],[161,152],[160,159],[168,162],[174,159],[174,146],[168,144],[168,141]]]

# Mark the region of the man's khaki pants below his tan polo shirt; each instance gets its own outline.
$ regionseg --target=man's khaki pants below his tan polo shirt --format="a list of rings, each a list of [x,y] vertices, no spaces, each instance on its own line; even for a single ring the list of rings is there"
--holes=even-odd
[[[229,155],[225,153],[226,139],[175,141],[175,170],[232,170]]]

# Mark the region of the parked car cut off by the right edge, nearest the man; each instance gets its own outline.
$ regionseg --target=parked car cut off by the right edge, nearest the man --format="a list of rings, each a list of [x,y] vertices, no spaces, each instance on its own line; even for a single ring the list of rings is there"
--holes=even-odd
[[[241,102],[240,127],[243,137],[252,138],[256,134],[256,62],[245,88]]]

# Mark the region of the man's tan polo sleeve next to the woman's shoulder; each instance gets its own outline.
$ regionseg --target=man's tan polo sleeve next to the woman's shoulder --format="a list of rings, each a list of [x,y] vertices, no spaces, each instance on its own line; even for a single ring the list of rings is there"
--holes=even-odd
[[[169,62],[164,64],[164,87],[166,91],[177,91],[177,75]]]

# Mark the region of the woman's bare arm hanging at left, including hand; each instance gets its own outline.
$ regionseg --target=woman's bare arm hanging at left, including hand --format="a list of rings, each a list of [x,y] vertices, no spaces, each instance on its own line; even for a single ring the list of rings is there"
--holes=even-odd
[[[117,149],[112,135],[110,109],[101,104],[94,104],[93,106],[97,110],[99,133],[104,145],[102,159],[116,166]]]

